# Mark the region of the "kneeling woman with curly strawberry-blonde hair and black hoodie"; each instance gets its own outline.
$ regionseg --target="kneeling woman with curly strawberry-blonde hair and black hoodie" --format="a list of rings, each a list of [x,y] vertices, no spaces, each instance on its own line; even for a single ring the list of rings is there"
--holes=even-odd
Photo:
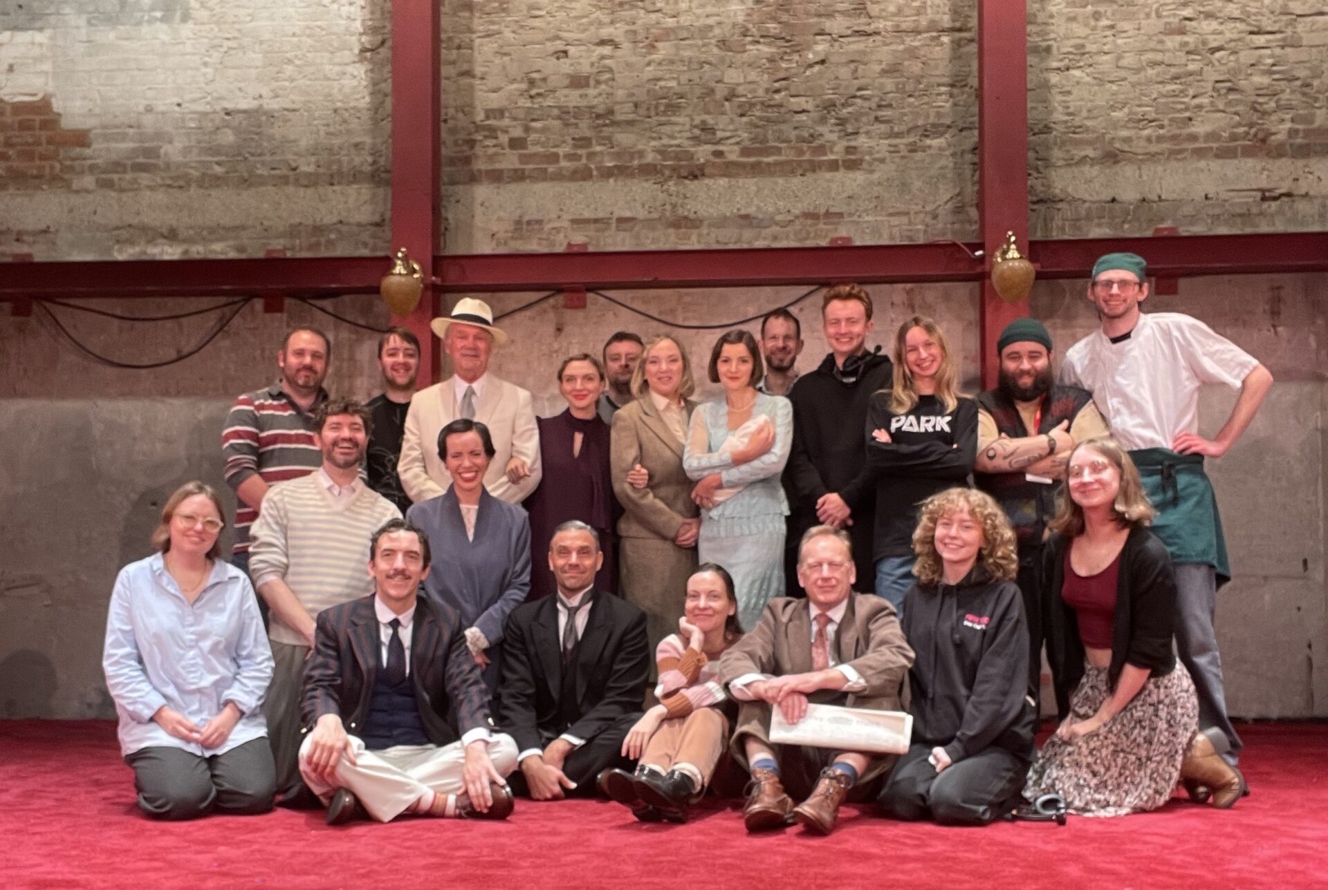
[[[984,492],[950,488],[923,501],[912,539],[918,582],[902,627],[912,744],[880,793],[886,816],[985,825],[1013,809],[1033,759],[1028,627],[1013,578],[1015,532]]]

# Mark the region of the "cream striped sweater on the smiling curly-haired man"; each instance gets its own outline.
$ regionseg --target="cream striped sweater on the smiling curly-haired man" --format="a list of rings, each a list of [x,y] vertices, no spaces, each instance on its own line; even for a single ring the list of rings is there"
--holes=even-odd
[[[317,618],[324,609],[373,593],[369,539],[384,523],[400,519],[392,501],[363,481],[339,503],[323,484],[323,475],[278,483],[263,499],[254,523],[250,574],[254,586],[283,578],[300,605]],[[272,642],[305,646],[295,629],[275,614]]]

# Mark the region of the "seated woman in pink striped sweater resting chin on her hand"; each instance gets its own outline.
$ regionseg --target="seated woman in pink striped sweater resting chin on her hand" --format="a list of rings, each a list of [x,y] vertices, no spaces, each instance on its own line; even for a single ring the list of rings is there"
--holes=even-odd
[[[720,655],[742,637],[733,578],[713,562],[687,581],[679,633],[656,650],[659,686],[652,707],[623,740],[623,756],[639,759],[636,772],[614,769],[604,791],[632,808],[643,822],[685,822],[701,798],[729,740],[732,715],[718,680]]]

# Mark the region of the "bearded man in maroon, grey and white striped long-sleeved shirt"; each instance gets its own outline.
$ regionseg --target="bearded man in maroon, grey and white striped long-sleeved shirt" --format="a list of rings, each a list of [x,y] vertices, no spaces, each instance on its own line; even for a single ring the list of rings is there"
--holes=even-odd
[[[327,334],[313,328],[291,330],[276,354],[282,377],[235,399],[226,415],[222,430],[226,484],[239,499],[231,562],[242,570],[248,570],[250,527],[268,487],[307,476],[323,462],[313,413],[328,397],[323,379],[331,357]],[[264,605],[262,600],[259,605]],[[264,619],[266,611],[264,607]]]

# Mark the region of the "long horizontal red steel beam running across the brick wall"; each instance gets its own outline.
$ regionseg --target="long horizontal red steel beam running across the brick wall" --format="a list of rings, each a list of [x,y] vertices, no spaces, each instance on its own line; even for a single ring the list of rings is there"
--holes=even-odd
[[[1062,239],[1031,245],[1044,280],[1088,279],[1093,261],[1110,251],[1133,251],[1149,261],[1151,275],[1163,277],[1328,272],[1328,232]],[[985,275],[981,261],[955,244],[487,253],[438,256],[434,264],[442,279],[438,289],[449,293],[907,284],[977,281]],[[389,267],[386,256],[0,263],[0,300],[377,293]]]

